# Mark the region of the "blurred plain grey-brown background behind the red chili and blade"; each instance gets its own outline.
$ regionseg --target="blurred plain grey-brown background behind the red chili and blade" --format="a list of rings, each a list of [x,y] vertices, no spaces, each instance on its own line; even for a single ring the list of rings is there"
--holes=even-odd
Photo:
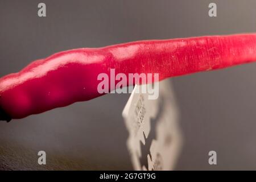
[[[47,17],[37,15],[38,3]],[[210,2],[217,17],[208,16]],[[79,47],[256,32],[256,1],[0,1],[0,76]],[[176,169],[256,169],[256,64],[172,78],[184,147]],[[121,111],[129,94],[0,123],[0,169],[132,169]],[[47,165],[37,152],[47,152]],[[208,152],[217,151],[217,166]]]

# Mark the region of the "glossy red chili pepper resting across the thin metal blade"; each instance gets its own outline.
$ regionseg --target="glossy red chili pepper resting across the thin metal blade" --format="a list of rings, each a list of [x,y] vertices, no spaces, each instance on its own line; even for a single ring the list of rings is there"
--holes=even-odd
[[[0,107],[24,118],[101,96],[99,73],[159,73],[159,80],[256,60],[256,34],[146,40],[80,48],[37,60],[0,78]],[[113,88],[112,88],[113,89]]]

